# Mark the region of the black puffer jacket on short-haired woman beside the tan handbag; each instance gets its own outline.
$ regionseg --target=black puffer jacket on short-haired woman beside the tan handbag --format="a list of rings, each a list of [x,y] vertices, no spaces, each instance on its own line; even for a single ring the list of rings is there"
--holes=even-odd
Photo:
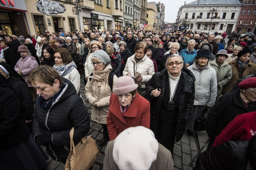
[[[76,143],[88,134],[90,129],[90,118],[87,108],[81,97],[76,94],[74,85],[63,78],[66,87],[60,94],[60,98],[48,110],[41,109],[36,99],[35,114],[33,114],[33,137],[41,135],[42,131],[53,131],[52,143],[46,146],[47,151],[58,150],[67,152],[70,146],[69,132],[75,127],[73,140]],[[51,155],[50,155],[51,156]],[[58,160],[63,160],[67,155],[57,156]],[[55,158],[55,160],[57,160]]]

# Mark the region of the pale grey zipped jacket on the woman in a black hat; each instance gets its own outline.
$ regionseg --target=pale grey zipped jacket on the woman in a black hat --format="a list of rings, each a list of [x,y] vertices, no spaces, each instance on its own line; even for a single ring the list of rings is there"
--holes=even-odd
[[[212,107],[217,97],[217,76],[214,68],[207,63],[206,68],[200,72],[197,62],[190,65],[189,69],[196,77],[194,105],[207,105]]]

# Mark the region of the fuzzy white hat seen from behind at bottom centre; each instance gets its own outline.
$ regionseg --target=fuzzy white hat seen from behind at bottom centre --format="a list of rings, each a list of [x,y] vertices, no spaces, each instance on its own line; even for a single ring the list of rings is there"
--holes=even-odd
[[[157,152],[154,133],[143,126],[127,128],[114,140],[113,158],[120,170],[148,170]]]

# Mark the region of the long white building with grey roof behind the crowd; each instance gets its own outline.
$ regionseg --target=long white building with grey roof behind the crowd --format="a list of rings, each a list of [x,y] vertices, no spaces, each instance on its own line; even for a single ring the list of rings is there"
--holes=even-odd
[[[187,20],[187,25],[181,26],[189,30],[206,33],[226,31],[229,35],[235,30],[241,6],[239,0],[197,0],[181,6],[177,21]],[[210,10],[213,9],[217,11],[212,14]]]

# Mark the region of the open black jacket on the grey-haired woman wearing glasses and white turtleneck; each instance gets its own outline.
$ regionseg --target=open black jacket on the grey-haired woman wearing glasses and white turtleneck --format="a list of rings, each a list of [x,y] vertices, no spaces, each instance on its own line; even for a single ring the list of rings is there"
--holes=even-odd
[[[166,83],[166,74],[167,70],[164,69],[161,72],[155,73],[148,82],[146,82],[146,93],[148,96],[150,92],[156,88],[161,89],[161,94],[159,97],[151,100],[151,108],[150,108],[150,129],[154,132],[155,127],[158,122],[158,112],[161,107],[161,103],[163,101],[164,92],[165,92],[165,83]],[[194,98],[195,98],[195,76],[193,73],[187,68],[183,68],[181,71],[183,76],[183,91],[179,95],[179,108],[178,108],[178,117],[177,117],[177,125],[176,125],[176,140],[178,142],[183,136],[186,123],[190,119],[190,112],[192,111]],[[167,80],[168,81],[168,80]]]

